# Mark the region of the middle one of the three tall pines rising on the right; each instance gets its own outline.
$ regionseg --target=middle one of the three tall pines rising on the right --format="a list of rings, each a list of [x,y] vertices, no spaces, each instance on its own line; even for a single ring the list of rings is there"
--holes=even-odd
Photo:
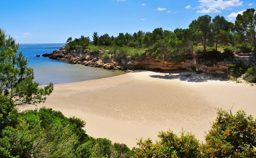
[[[212,32],[216,43],[215,51],[217,51],[219,43],[228,43],[228,33],[232,25],[233,23],[228,22],[223,16],[217,15],[212,19]]]

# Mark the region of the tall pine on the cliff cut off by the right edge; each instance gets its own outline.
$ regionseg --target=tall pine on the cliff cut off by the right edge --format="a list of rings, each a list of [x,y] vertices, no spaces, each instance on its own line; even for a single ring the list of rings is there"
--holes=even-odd
[[[235,29],[238,34],[247,36],[253,42],[256,57],[256,13],[255,9],[247,9],[243,15],[238,14],[235,20]]]

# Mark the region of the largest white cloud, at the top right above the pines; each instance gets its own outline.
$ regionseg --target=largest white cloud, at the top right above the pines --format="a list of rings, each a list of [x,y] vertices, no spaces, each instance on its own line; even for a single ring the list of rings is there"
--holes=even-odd
[[[198,2],[200,2],[199,8],[219,8],[222,10],[232,9],[243,4],[240,0],[199,0]]]

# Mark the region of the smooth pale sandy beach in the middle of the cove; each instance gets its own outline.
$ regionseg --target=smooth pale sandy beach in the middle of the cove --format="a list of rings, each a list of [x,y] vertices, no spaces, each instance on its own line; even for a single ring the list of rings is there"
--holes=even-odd
[[[179,135],[182,128],[204,141],[216,108],[244,110],[256,118],[256,85],[233,83],[192,73],[140,71],[124,75],[54,85],[42,106],[86,122],[92,137],[137,147],[137,139],[158,140],[168,129]]]

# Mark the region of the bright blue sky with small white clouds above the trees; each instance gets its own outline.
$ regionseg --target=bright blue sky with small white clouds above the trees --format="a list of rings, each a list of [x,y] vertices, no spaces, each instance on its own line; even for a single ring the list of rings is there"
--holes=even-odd
[[[108,33],[188,28],[202,15],[234,22],[255,0],[1,0],[0,28],[17,43],[65,43]]]

